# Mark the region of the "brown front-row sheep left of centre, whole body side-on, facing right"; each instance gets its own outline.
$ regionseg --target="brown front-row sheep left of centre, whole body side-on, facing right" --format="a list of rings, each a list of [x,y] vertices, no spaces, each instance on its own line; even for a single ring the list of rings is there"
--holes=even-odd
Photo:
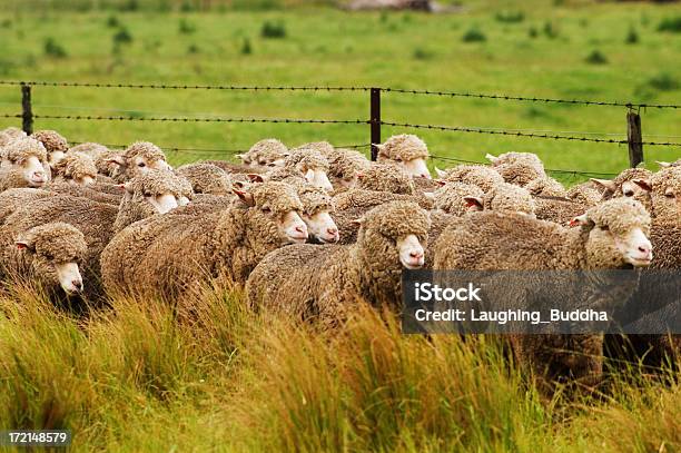
[[[174,298],[217,277],[239,286],[269,252],[307,240],[293,187],[267,181],[236,194],[226,209],[150,217],[116,235],[101,256],[109,294]]]

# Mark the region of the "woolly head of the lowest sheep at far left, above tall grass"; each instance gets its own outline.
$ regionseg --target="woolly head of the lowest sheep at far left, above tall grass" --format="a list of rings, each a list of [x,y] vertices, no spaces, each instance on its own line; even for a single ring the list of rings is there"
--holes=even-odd
[[[59,285],[69,295],[82,292],[79,263],[87,245],[78,229],[67,224],[47,224],[30,229],[16,245],[30,255],[40,279]]]

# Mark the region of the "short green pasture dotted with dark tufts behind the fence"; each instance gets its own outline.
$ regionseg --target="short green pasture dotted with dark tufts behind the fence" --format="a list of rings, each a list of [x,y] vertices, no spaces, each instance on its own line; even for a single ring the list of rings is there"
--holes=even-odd
[[[346,13],[329,8],[211,13],[0,12],[2,79],[207,83],[382,86],[486,93],[679,104],[681,33],[659,31],[679,6],[650,3],[465,2],[462,13]],[[515,6],[514,6],[515,4]],[[520,14],[519,14],[520,13]],[[500,19],[501,16],[502,18]],[[514,21],[515,20],[515,21]],[[282,23],[284,38],[261,36]],[[276,27],[275,27],[276,28]],[[114,37],[126,30],[130,40]],[[477,30],[484,41],[464,42]],[[636,42],[626,43],[634,35]],[[276,31],[275,31],[276,35]],[[46,42],[53,46],[46,53]],[[633,39],[633,38],[632,38]],[[124,42],[125,41],[125,42]],[[244,53],[248,41],[250,53]],[[116,48],[116,49],[115,49]],[[60,52],[65,56],[60,56]],[[599,52],[593,57],[593,52]],[[601,63],[599,56],[604,58]],[[0,114],[19,111],[18,87],[0,87]],[[365,92],[224,92],[42,88],[36,114],[366,119]],[[625,138],[625,108],[544,105],[385,93],[388,121],[502,129],[604,132]],[[680,141],[678,110],[643,111],[644,139]],[[17,120],[0,120],[0,126]],[[264,137],[290,145],[328,139],[368,142],[366,125],[157,124],[39,120],[72,141],[167,147],[247,148]],[[404,129],[384,128],[383,136]],[[549,168],[612,173],[626,166],[622,145],[416,131],[436,155],[481,159],[529,150]],[[581,135],[581,134],[575,134]],[[664,136],[664,137],[661,137]],[[668,136],[672,136],[671,138]],[[675,136],[675,137],[674,137]],[[648,147],[647,160],[679,148]],[[200,154],[177,152],[175,163]],[[210,157],[216,157],[215,155]],[[438,165],[443,165],[440,163]],[[446,165],[446,164],[445,164]]]

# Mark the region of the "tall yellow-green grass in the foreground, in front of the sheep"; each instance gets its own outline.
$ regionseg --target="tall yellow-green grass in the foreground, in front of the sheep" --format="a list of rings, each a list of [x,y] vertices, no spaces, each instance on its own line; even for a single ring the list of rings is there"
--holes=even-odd
[[[0,426],[70,429],[73,451],[681,449],[679,375],[614,372],[602,394],[545,401],[491,338],[403,336],[372,311],[324,334],[228,294],[78,321],[13,289]]]

